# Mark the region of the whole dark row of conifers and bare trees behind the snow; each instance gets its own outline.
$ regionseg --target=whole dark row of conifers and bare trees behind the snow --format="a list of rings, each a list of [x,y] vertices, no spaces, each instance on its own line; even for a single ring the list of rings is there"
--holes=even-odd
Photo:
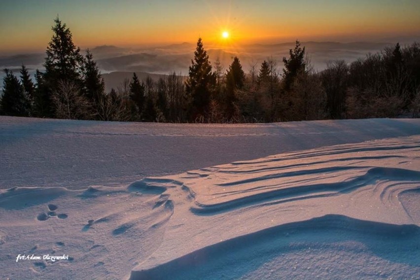
[[[187,77],[175,72],[140,81],[136,73],[105,93],[92,53],[81,54],[57,17],[35,83],[4,69],[0,114],[104,121],[259,123],[322,119],[419,117],[420,44],[385,48],[350,64],[314,71],[296,41],[289,57],[268,58],[245,73],[235,57],[228,69],[211,65],[201,38]]]

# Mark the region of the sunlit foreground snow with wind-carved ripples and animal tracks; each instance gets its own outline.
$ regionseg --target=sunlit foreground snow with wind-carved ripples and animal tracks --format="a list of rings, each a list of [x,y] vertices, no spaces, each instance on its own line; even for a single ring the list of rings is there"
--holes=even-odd
[[[419,279],[420,136],[0,190],[6,278]],[[4,252],[4,253],[3,253]],[[69,260],[19,261],[17,254]]]

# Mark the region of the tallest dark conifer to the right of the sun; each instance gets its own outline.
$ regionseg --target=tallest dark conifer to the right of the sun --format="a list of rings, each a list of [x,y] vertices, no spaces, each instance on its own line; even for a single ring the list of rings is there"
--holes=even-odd
[[[289,90],[293,84],[294,79],[301,71],[305,71],[305,47],[301,48],[300,42],[296,40],[296,46],[289,50],[290,58],[283,58],[283,81],[284,89]]]

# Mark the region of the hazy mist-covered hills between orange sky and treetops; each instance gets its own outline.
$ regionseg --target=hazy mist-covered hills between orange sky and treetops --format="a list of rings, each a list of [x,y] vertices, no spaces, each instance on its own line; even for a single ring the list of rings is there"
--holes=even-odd
[[[326,63],[333,60],[345,60],[353,62],[364,58],[368,53],[376,53],[385,47],[392,46],[391,43],[374,42],[302,42],[306,53],[311,59],[315,70],[322,70]],[[106,90],[115,87],[122,82],[121,77],[131,77],[133,72],[169,74],[170,72],[188,75],[188,67],[194,57],[195,44],[181,43],[159,47],[144,48],[121,48],[117,46],[98,46],[91,49],[94,59],[97,61],[101,72],[108,74],[120,72],[119,74],[107,75],[105,78]],[[245,72],[249,71],[251,64],[261,65],[264,60],[273,58],[277,61],[278,71],[281,73],[283,57],[289,56],[289,49],[293,49],[295,42],[281,44],[250,44],[241,46],[238,49],[221,48],[220,46],[204,46],[208,51],[210,62],[214,65],[218,58],[226,71],[229,68],[233,57],[237,56]],[[21,54],[8,57],[0,57],[0,67],[13,69],[19,75],[19,68],[25,64],[30,69],[32,76],[36,69],[43,70],[44,53]],[[126,74],[122,74],[126,72]],[[143,74],[140,74],[143,76]],[[0,78],[4,73],[0,73]],[[156,76],[159,77],[159,76]]]

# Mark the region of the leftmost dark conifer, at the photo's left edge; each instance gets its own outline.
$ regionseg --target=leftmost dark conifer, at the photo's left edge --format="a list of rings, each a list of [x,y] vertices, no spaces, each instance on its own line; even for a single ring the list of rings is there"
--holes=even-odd
[[[29,115],[28,99],[23,86],[9,69],[4,69],[3,96],[1,97],[1,114],[6,116],[26,117]]]

